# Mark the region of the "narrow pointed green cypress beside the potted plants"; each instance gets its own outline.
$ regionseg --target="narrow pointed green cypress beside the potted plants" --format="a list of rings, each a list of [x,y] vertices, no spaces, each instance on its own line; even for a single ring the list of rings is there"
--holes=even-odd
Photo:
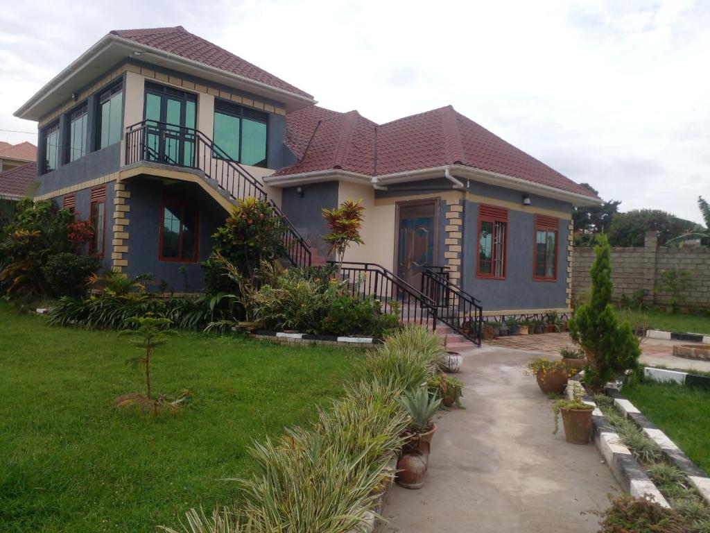
[[[599,236],[591,265],[591,298],[577,308],[570,319],[569,335],[579,344],[588,361],[584,381],[591,387],[603,387],[626,371],[638,372],[641,355],[638,339],[628,322],[620,324],[611,306],[611,247],[606,235]]]

